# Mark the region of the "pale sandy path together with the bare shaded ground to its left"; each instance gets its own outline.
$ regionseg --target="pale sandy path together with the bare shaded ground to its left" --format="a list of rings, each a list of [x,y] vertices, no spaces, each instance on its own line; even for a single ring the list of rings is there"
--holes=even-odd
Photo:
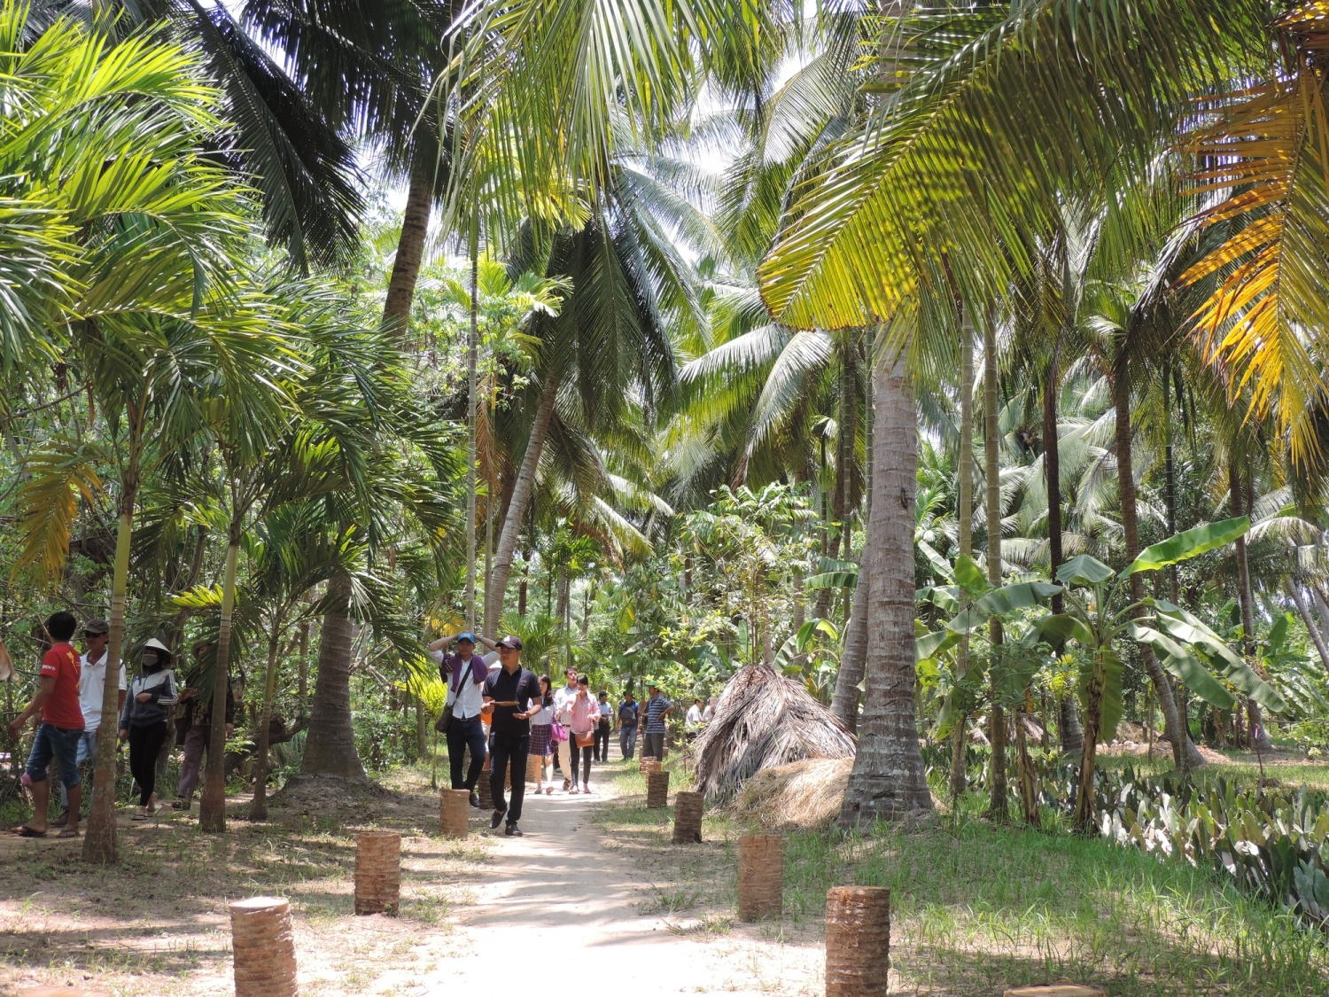
[[[478,811],[468,839],[439,839],[437,795],[415,774],[369,796],[306,792],[267,824],[235,800],[225,836],[201,835],[197,808],[193,822],[124,820],[114,868],[85,865],[77,841],[0,839],[0,992],[233,993],[226,904],[256,895],[291,900],[311,997],[482,992],[504,977],[549,997],[821,992],[816,941],[672,917],[639,856],[593,820],[625,803],[609,779],[597,790],[528,796],[521,839]],[[399,917],[352,913],[354,835],[371,826],[403,833]]]

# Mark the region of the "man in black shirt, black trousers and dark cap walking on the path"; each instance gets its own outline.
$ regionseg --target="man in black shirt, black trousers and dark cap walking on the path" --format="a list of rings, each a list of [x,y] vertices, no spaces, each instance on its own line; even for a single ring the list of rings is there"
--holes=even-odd
[[[508,816],[504,833],[521,837],[521,802],[526,795],[526,755],[530,751],[530,718],[541,710],[540,679],[521,667],[521,638],[508,635],[498,641],[502,667],[485,679],[484,698],[494,705],[490,724],[489,791],[494,814],[489,827],[497,828]],[[504,776],[512,763],[512,806],[504,802]]]

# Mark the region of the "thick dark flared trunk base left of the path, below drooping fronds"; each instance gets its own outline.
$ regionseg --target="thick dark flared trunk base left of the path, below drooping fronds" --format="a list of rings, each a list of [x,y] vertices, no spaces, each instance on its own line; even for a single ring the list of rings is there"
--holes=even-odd
[[[314,705],[300,774],[363,779],[364,766],[355,751],[355,727],[351,723],[351,580],[334,578],[328,584],[328,594],[332,596],[332,608],[323,617],[319,674],[314,681]]]

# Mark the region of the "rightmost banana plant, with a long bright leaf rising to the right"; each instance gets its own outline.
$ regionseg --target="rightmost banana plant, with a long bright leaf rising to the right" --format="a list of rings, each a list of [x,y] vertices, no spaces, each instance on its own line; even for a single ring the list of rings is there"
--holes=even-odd
[[[1122,718],[1123,662],[1118,653],[1122,637],[1152,647],[1174,678],[1220,710],[1236,703],[1229,686],[1271,713],[1285,709],[1282,697],[1192,613],[1164,600],[1127,598],[1131,576],[1225,546],[1249,528],[1251,520],[1240,516],[1184,530],[1146,548],[1122,572],[1088,554],[1073,557],[1058,569],[1066,611],[1049,617],[1041,629],[1049,639],[1074,641],[1082,651],[1076,685],[1084,710],[1084,752],[1075,796],[1076,828],[1094,826],[1098,743],[1115,736]]]

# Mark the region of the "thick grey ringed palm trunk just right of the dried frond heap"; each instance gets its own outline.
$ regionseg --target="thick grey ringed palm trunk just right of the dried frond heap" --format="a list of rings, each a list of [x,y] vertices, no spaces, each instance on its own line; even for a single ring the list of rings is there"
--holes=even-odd
[[[932,812],[914,706],[914,492],[918,431],[909,343],[874,372],[872,517],[859,585],[868,585],[868,694],[840,826]]]

